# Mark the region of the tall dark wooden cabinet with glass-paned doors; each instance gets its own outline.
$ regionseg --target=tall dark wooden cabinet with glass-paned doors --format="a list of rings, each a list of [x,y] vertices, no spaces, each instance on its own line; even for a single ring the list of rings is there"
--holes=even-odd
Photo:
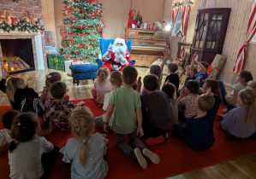
[[[198,10],[191,55],[197,52],[199,61],[211,65],[215,56],[223,53],[230,11],[227,8]]]

